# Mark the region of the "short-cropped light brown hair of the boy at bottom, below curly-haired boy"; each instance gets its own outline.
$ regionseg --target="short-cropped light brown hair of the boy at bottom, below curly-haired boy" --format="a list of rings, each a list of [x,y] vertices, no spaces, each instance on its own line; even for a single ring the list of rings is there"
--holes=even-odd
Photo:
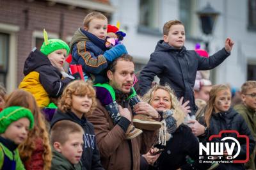
[[[52,146],[55,142],[65,144],[69,140],[68,135],[75,133],[84,134],[84,130],[79,124],[75,123],[74,121],[61,120],[56,122],[51,128]]]

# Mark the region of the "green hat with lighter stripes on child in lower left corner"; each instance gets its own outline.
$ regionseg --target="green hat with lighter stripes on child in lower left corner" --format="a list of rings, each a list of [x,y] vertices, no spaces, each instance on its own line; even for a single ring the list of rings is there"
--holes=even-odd
[[[6,128],[20,118],[28,118],[30,121],[29,130],[34,126],[34,116],[29,109],[20,106],[6,107],[0,112],[0,134],[3,134]]]

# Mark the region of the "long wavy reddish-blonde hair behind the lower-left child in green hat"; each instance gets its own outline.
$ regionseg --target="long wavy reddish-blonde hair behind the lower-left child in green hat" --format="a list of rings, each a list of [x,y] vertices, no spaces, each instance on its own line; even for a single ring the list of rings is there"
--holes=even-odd
[[[28,162],[31,159],[33,151],[36,150],[36,139],[42,139],[44,153],[44,170],[51,168],[52,151],[49,142],[49,129],[46,126],[44,116],[36,104],[36,100],[28,91],[16,89],[6,98],[5,107],[19,105],[28,108],[34,116],[35,126],[29,131],[28,137],[24,143],[19,145],[19,155],[22,162]],[[33,162],[31,162],[33,163]]]

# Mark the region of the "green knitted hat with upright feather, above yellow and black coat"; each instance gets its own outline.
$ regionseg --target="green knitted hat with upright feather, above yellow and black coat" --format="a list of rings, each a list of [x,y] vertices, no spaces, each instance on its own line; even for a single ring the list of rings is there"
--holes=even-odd
[[[54,52],[54,50],[60,50],[60,49],[67,50],[67,55],[69,54],[70,49],[69,49],[67,43],[63,42],[63,40],[60,40],[60,39],[48,40],[47,32],[44,29],[44,43],[41,46],[40,51],[47,56],[51,52]]]

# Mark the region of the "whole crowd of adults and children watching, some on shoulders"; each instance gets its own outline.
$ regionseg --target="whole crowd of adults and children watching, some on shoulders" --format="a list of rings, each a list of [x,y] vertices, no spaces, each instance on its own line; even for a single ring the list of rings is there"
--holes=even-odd
[[[209,81],[209,70],[230,56],[230,38],[212,56],[187,50],[184,25],[170,20],[136,76],[124,31],[99,12],[83,25],[70,46],[44,30],[19,89],[0,88],[0,169],[255,169],[256,81],[244,82],[234,109],[230,87]],[[248,141],[236,133],[212,140],[221,130]],[[200,143],[224,137],[239,141],[237,159],[250,155],[245,164],[200,160]],[[221,160],[232,154],[225,148]]]

